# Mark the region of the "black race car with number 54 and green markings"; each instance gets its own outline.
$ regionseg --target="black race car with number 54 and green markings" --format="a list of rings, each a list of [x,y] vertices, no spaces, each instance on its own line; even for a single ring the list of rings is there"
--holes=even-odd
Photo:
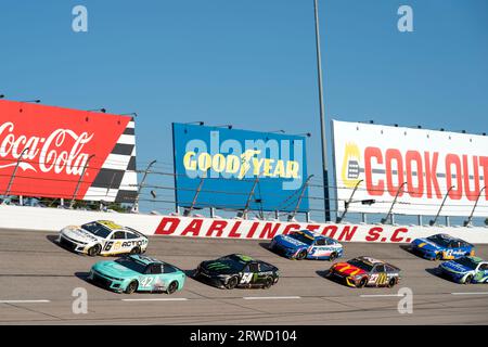
[[[194,277],[220,288],[269,288],[279,279],[277,267],[241,254],[202,261]]]

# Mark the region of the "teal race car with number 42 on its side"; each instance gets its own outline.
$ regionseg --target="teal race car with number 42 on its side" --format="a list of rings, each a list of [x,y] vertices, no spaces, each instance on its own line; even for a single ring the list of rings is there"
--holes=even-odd
[[[114,261],[92,266],[88,281],[117,293],[181,291],[187,275],[177,267],[141,255],[130,255]]]

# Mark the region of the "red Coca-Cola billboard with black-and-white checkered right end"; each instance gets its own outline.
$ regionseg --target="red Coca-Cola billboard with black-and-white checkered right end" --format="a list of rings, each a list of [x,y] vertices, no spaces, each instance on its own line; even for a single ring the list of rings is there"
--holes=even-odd
[[[136,185],[131,117],[0,100],[0,194],[130,203]]]

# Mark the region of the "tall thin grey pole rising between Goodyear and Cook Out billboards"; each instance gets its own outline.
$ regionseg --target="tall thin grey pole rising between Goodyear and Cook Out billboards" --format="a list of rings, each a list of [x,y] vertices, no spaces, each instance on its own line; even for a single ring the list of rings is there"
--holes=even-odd
[[[325,221],[331,220],[331,202],[329,200],[329,169],[328,169],[328,143],[325,139],[325,115],[323,105],[322,89],[322,57],[320,54],[320,33],[319,33],[319,5],[318,0],[313,0],[316,14],[316,48],[317,48],[317,73],[319,82],[319,104],[320,104],[320,136],[322,141],[322,176],[323,176],[323,201]]]

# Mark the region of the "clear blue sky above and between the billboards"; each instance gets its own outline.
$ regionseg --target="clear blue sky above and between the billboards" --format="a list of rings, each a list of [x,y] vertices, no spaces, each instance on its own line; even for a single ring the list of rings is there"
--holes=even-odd
[[[320,21],[329,119],[488,130],[486,0],[321,0]],[[0,93],[137,112],[140,166],[170,171],[170,123],[204,120],[310,131],[320,177],[312,0],[2,1],[0,30]]]

